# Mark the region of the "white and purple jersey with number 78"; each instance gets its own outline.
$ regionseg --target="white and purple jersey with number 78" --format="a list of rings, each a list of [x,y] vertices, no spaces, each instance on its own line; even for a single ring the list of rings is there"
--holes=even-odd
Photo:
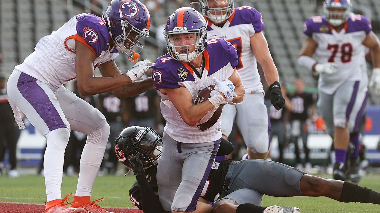
[[[361,15],[350,16],[340,32],[334,30],[325,17],[314,16],[305,21],[304,33],[318,43],[315,51],[318,63],[337,64],[335,74],[320,74],[320,91],[331,95],[344,82],[360,81],[363,78],[362,42],[371,30],[369,20]]]

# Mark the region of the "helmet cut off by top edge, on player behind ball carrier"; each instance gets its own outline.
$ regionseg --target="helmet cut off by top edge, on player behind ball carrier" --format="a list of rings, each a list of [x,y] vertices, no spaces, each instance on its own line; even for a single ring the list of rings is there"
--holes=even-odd
[[[212,8],[208,0],[198,0],[204,16],[215,23],[222,23],[234,13],[234,0],[217,0],[216,2],[227,2],[225,7]],[[215,0],[214,0],[215,2]]]

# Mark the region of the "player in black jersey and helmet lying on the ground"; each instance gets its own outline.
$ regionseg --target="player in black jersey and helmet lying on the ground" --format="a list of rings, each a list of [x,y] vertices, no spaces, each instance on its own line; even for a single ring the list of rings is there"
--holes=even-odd
[[[224,140],[220,147],[231,146]],[[119,161],[132,168],[136,182],[131,202],[144,213],[164,212],[158,197],[157,166],[162,162],[162,138],[150,127],[127,127],[115,141]],[[217,155],[228,154],[228,149]],[[289,181],[294,180],[294,181]],[[204,188],[200,188],[198,213],[299,213],[296,207],[260,207],[263,194],[284,196],[325,196],[340,202],[380,204],[380,193],[340,180],[305,174],[282,163],[260,159],[215,161]],[[215,203],[214,203],[215,202]],[[212,207],[213,206],[213,207]]]

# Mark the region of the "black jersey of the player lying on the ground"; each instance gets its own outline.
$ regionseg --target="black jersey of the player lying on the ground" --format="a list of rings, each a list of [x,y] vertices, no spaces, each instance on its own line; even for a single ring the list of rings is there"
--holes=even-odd
[[[231,160],[222,160],[220,162],[215,160],[214,164],[212,165],[210,174],[207,177],[207,182],[204,186],[204,190],[201,194],[201,197],[209,201],[214,201],[215,196],[218,193],[222,193],[224,179],[226,177],[230,163]],[[157,164],[145,169],[145,175],[146,180],[152,188],[153,192],[157,193]],[[141,205],[141,196],[144,196],[144,194],[140,193],[139,183],[137,180],[135,183],[133,183],[132,188],[129,190],[129,196],[133,205],[135,205],[140,210],[144,211],[144,207]],[[154,198],[158,199],[158,196],[154,196]]]

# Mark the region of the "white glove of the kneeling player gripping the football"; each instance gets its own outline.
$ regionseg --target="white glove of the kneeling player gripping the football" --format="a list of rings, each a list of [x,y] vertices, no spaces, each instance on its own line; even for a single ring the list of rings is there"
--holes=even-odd
[[[225,105],[228,102],[232,101],[234,97],[236,97],[235,94],[235,86],[232,83],[232,81],[226,79],[223,81],[219,81],[217,78],[213,78],[214,84],[215,84],[215,90],[211,91],[211,97],[209,98],[209,101],[215,106],[219,107],[219,105]]]

